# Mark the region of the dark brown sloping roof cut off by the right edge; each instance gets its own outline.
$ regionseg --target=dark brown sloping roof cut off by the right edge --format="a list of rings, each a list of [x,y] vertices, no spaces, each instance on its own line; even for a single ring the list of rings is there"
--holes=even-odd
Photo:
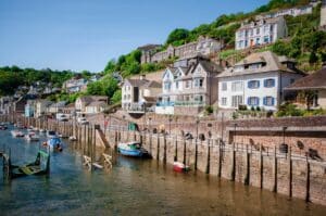
[[[326,67],[306,77],[298,79],[286,90],[317,90],[326,89]]]

